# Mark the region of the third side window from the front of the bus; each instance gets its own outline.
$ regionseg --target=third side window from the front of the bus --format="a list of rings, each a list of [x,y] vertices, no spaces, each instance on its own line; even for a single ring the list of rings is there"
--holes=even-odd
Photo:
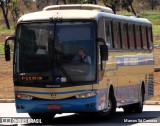
[[[121,23],[121,36],[122,36],[122,48],[123,49],[128,49],[127,26],[126,26],[126,23]]]

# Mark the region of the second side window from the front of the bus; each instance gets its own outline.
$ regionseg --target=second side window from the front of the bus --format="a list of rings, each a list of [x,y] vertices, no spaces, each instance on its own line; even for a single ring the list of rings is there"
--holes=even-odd
[[[121,48],[119,23],[115,22],[115,21],[113,21],[113,36],[114,36],[114,47],[115,47],[115,49]]]

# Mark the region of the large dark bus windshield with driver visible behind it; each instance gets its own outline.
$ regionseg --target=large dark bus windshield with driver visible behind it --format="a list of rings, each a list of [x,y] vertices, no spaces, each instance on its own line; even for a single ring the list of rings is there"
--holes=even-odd
[[[95,33],[93,22],[19,24],[16,75],[26,81],[40,80],[37,76],[54,83],[95,81]]]

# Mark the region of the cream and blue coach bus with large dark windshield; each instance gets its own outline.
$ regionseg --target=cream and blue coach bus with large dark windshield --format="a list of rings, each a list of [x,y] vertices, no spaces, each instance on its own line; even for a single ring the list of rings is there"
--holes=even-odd
[[[113,117],[141,113],[153,96],[153,36],[148,19],[98,5],[53,5],[23,15],[5,41],[18,113],[52,120],[60,113]],[[83,55],[83,58],[78,58]]]

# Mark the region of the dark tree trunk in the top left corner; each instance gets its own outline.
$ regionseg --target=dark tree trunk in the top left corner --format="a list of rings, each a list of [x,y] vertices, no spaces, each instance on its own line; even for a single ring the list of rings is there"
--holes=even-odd
[[[8,3],[10,1],[9,0],[0,0],[0,7],[2,9],[2,13],[3,13],[3,17],[5,19],[5,23],[8,29],[10,29],[10,24],[9,24],[9,20],[8,20]]]

